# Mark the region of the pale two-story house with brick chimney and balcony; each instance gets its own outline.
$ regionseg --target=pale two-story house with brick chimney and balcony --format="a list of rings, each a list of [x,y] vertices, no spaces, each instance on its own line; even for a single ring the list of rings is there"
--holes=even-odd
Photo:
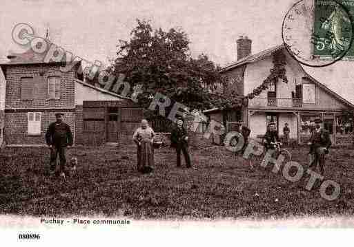
[[[251,54],[251,43],[241,36],[237,40],[238,60],[220,72],[230,80],[229,87],[246,96],[239,120],[251,129],[250,137],[264,135],[269,122],[276,123],[282,136],[287,122],[291,138],[305,142],[313,120],[319,117],[335,142],[338,118],[344,109],[354,109],[354,105],[306,73],[284,45]],[[274,56],[279,54],[283,54],[287,80],[277,79],[264,87],[264,80],[275,66]]]

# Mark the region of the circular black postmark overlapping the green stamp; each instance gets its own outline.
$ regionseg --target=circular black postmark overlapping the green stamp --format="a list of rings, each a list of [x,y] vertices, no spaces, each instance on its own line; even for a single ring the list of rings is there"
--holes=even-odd
[[[328,66],[344,58],[353,50],[353,35],[351,12],[336,0],[298,1],[282,25],[286,50],[310,67]]]

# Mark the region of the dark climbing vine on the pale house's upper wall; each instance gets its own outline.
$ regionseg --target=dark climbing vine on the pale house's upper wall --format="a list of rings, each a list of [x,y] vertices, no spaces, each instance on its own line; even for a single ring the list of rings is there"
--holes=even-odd
[[[278,79],[282,79],[284,83],[288,83],[288,78],[286,78],[286,56],[280,50],[273,54],[273,68],[271,69],[271,74],[263,81],[262,85],[253,89],[253,92],[248,94],[246,98],[252,99],[255,96],[261,94],[262,91],[269,88],[271,83],[277,83]]]

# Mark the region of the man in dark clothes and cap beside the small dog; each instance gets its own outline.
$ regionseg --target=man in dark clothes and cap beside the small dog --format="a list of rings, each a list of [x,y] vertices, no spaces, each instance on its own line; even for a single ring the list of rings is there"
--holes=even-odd
[[[52,122],[46,132],[46,142],[50,148],[50,172],[55,172],[57,155],[59,154],[61,176],[65,177],[66,148],[72,146],[72,133],[69,125],[63,122],[63,114],[55,114],[56,122]]]

